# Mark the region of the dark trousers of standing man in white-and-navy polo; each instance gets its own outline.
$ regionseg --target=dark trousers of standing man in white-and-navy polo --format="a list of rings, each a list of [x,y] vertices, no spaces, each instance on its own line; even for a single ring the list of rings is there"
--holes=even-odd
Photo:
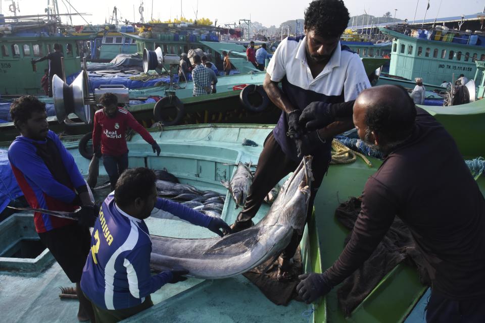
[[[307,222],[310,220],[313,212],[313,201],[315,195],[322,183],[323,176],[328,170],[330,163],[330,152],[319,153],[313,156],[312,172],[314,181],[312,182],[312,191],[308,206]],[[264,143],[263,151],[259,155],[258,167],[254,175],[251,192],[246,199],[244,209],[238,214],[236,222],[251,221],[263,203],[264,197],[269,191],[288,173],[293,172],[300,161],[288,158],[281,149],[281,146],[274,139],[273,133],[270,133]],[[302,236],[294,232],[292,240],[281,254],[282,258],[292,258],[302,240]]]

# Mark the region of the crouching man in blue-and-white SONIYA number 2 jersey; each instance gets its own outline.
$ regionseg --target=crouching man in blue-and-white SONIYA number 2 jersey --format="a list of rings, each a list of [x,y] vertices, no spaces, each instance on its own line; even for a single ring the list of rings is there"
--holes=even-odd
[[[103,202],[94,224],[91,250],[81,278],[81,289],[92,301],[98,322],[117,322],[153,305],[150,294],[167,283],[186,278],[184,270],[150,275],[152,241],[143,219],[154,208],[223,236],[230,231],[221,219],[157,197],[152,170],[136,168],[121,174],[116,189]]]

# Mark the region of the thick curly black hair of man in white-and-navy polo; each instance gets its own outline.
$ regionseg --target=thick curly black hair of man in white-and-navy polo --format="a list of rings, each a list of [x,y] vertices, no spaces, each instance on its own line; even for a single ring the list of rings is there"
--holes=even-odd
[[[339,37],[349,23],[349,11],[342,0],[314,0],[305,11],[305,28],[320,37]]]

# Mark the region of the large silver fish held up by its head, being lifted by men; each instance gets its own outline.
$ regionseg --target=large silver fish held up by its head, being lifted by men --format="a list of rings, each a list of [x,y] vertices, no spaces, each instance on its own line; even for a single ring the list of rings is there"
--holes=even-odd
[[[266,216],[254,227],[223,238],[178,239],[151,236],[151,267],[184,268],[188,276],[221,279],[245,273],[277,257],[293,232],[303,232],[313,180],[306,156],[284,183]]]

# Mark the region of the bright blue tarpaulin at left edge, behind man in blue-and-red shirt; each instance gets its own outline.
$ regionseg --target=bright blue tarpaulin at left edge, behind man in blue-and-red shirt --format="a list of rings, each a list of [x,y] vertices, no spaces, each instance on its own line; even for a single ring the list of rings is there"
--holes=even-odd
[[[0,149],[0,212],[9,205],[10,201],[24,195],[10,167],[7,152],[8,150]]]

